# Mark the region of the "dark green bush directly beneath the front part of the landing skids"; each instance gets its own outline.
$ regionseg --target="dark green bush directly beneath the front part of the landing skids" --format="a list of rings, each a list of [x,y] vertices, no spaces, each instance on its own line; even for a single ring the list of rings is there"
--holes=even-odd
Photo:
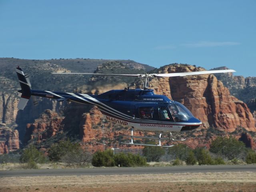
[[[147,144],[155,145],[155,142],[147,142]],[[142,150],[143,156],[147,158],[147,161],[156,161],[158,162],[161,156],[165,154],[165,150],[162,147],[158,146],[146,146]]]

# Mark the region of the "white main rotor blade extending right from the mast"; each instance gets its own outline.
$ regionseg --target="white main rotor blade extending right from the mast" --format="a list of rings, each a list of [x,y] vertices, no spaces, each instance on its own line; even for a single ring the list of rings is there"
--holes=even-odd
[[[164,73],[164,74],[152,74],[156,77],[177,77],[177,76],[187,76],[187,75],[202,75],[202,74],[213,74],[213,73],[228,73],[236,72],[235,70],[212,70],[212,71],[195,71],[195,72],[183,72],[183,73]]]

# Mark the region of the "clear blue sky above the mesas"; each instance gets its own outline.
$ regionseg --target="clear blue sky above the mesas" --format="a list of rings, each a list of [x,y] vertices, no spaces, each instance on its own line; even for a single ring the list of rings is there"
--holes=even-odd
[[[0,0],[0,57],[177,62],[256,76],[256,1]]]

